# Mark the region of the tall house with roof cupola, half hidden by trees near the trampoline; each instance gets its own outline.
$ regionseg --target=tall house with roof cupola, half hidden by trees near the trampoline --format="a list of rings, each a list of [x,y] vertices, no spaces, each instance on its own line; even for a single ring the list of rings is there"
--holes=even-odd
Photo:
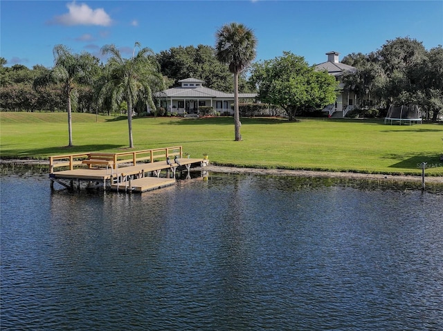
[[[325,109],[323,109],[323,111],[327,111],[329,115],[335,113],[334,117],[345,117],[346,113],[354,108],[356,103],[356,95],[354,95],[352,92],[343,91],[343,82],[341,77],[346,71],[355,72],[357,69],[354,66],[348,66],[347,64],[339,62],[338,55],[340,54],[334,50],[326,53],[326,55],[327,62],[317,64],[315,68],[319,71],[326,70],[329,75],[334,76],[338,82],[339,89],[337,91],[337,100],[335,104],[327,106]]]

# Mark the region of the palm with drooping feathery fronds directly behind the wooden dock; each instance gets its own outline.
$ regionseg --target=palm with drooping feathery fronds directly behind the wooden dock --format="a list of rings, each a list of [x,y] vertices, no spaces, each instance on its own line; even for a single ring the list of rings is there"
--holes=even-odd
[[[132,109],[138,100],[147,102],[155,109],[152,101],[152,92],[164,89],[163,76],[160,74],[159,65],[154,61],[154,52],[150,48],[141,48],[135,54],[135,48],[140,44],[136,42],[134,52],[130,59],[124,59],[120,50],[115,45],[102,47],[103,55],[111,55],[107,62],[107,81],[100,91],[100,104],[106,97],[111,97],[114,105],[123,101],[127,102],[127,123],[129,129],[129,148],[134,148],[132,139]]]

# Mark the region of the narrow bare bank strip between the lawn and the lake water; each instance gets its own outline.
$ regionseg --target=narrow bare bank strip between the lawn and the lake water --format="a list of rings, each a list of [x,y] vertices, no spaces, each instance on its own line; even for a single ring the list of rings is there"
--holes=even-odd
[[[0,159],[0,164],[19,165],[48,165],[48,160],[28,160],[28,159]],[[383,180],[398,182],[422,182],[422,176],[390,175],[382,173],[354,173],[339,171],[314,171],[314,170],[287,170],[287,169],[260,169],[242,167],[224,167],[208,164],[202,168],[217,173],[234,173],[262,176],[293,176],[311,178],[343,178],[353,180]],[[426,176],[425,182],[443,185],[443,176]]]

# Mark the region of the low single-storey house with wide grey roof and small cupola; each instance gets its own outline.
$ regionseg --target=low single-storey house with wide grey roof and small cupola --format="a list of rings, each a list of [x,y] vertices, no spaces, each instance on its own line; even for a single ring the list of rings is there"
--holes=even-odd
[[[234,103],[234,93],[224,93],[204,86],[204,81],[196,78],[179,80],[181,86],[168,88],[156,93],[159,106],[170,113],[198,114],[199,107],[212,106],[221,115],[232,115],[231,104]],[[239,93],[239,100],[255,100],[257,93]]]

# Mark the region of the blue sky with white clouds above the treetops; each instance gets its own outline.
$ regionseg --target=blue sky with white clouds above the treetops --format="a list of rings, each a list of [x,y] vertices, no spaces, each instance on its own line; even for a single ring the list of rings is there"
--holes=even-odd
[[[256,60],[287,50],[309,64],[367,54],[410,37],[443,44],[443,1],[0,1],[0,56],[7,66],[53,66],[53,47],[100,57],[115,44],[129,57],[136,41],[154,52],[215,45],[224,23],[244,23],[258,40]]]

